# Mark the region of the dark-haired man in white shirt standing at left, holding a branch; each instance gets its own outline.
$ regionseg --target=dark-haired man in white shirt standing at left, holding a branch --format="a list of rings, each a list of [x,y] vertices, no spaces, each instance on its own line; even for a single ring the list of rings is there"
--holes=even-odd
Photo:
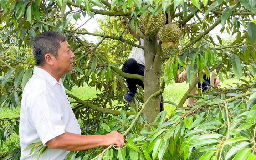
[[[69,151],[80,151],[111,144],[122,146],[118,132],[106,135],[81,135],[63,87],[61,76],[73,68],[75,55],[66,37],[57,32],[41,33],[33,40],[33,54],[38,66],[27,82],[21,100],[21,160],[34,160],[27,145],[41,140],[47,145],[39,159],[63,160]]]

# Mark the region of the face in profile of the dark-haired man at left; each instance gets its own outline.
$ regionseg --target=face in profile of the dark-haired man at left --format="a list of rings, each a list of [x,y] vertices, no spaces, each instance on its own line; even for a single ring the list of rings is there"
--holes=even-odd
[[[56,69],[58,73],[66,74],[73,68],[74,53],[70,50],[67,41],[60,42],[61,47],[58,50],[58,59],[56,60]]]

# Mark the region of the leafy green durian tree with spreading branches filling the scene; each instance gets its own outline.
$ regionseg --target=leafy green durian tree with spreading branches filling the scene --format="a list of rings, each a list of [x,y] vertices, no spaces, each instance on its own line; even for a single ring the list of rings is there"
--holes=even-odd
[[[45,31],[64,34],[76,57],[73,71],[62,79],[72,98],[76,118],[84,127],[82,134],[120,131],[126,137],[122,149],[115,150],[111,145],[106,149],[70,152],[66,159],[80,156],[83,160],[254,160],[255,4],[254,0],[0,0],[3,26],[0,30],[9,33],[8,40],[16,38],[17,47],[30,55],[32,37]],[[95,14],[109,16],[112,25],[108,32],[90,33],[86,30],[89,22],[82,27],[75,27],[71,22]],[[144,39],[144,46],[135,43],[127,27],[121,25],[122,21],[137,37]],[[219,36],[219,42],[214,41],[215,35],[210,33],[219,24],[222,27],[217,32],[236,35],[234,42],[225,45]],[[94,45],[83,35],[97,36],[100,40]],[[115,56],[116,50],[109,52],[108,47],[102,46],[109,39],[130,48],[144,49],[144,76],[124,73],[119,65],[111,63],[109,53]],[[20,104],[22,89],[32,75],[35,61],[32,56],[18,59],[6,47],[8,41],[0,42],[0,108],[13,108]],[[176,77],[176,72],[185,69],[186,83],[191,87],[178,105],[165,101],[176,105],[165,122],[167,112],[159,113],[160,94]],[[230,84],[228,88],[213,87],[204,93],[199,89],[198,94],[191,95],[190,91],[202,81],[204,74],[209,77],[214,69],[217,71],[214,76],[222,81],[232,71],[242,83]],[[196,74],[199,78],[193,82]],[[124,78],[144,82],[144,92],[140,89],[131,104],[122,102],[127,91]],[[101,93],[91,99],[72,94],[73,86],[85,83]],[[198,99],[191,108],[185,104],[189,97]],[[19,117],[0,119],[1,148],[7,146],[11,135],[19,135],[18,125]],[[47,150],[40,141],[30,148],[31,154],[39,155]],[[0,153],[2,159],[19,159],[19,156],[18,142]]]

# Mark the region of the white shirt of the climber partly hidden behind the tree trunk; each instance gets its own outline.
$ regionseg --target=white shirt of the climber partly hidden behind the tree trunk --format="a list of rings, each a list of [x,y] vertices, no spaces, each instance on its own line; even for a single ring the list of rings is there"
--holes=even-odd
[[[144,46],[144,40],[140,39],[141,45]],[[139,44],[139,42],[137,43]],[[142,64],[145,66],[145,56],[144,56],[144,50],[138,47],[133,47],[132,51],[130,52],[129,58],[133,58],[137,61],[137,63]]]

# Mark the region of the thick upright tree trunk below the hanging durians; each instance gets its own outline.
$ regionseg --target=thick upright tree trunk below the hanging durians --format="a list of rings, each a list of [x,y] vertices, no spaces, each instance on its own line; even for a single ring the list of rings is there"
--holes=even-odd
[[[144,55],[145,55],[145,72],[144,72],[144,103],[146,100],[157,92],[160,88],[161,63],[157,54],[157,36],[152,38],[144,36]],[[144,114],[147,116],[149,123],[154,122],[155,117],[160,112],[161,96],[153,97],[145,106]]]

